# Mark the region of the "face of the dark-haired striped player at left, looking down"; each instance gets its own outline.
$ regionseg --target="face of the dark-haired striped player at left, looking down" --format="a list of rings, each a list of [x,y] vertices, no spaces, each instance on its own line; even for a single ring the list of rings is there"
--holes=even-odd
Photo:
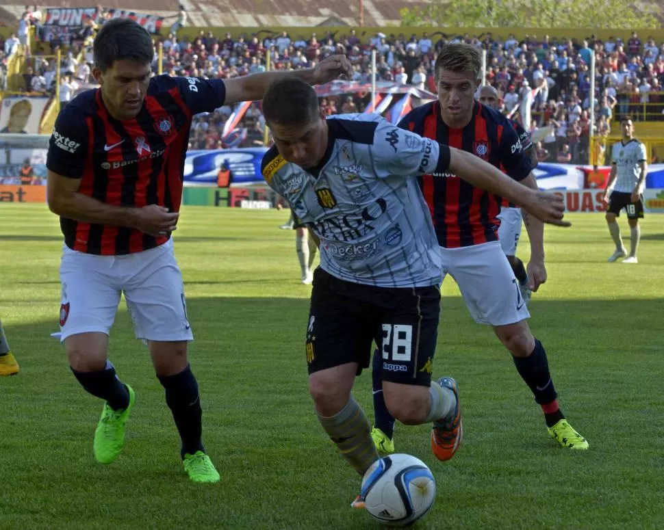
[[[92,75],[101,85],[104,103],[114,118],[118,120],[136,118],[150,84],[149,64],[123,59],[115,61],[105,72],[95,67]]]

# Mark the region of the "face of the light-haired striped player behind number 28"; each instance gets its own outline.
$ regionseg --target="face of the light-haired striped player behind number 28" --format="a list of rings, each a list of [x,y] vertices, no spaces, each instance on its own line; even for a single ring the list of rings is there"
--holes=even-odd
[[[472,72],[452,72],[442,68],[437,78],[438,101],[448,126],[465,125],[472,114],[477,80]]]

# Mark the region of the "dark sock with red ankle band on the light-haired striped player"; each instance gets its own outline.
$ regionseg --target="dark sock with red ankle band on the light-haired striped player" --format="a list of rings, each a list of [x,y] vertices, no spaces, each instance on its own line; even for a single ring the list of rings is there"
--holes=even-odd
[[[563,419],[565,416],[563,416],[558,408],[558,395],[553,386],[544,346],[541,345],[541,342],[535,339],[535,349],[533,349],[533,353],[528,357],[512,356],[512,358],[519,375],[521,375],[524,382],[526,382],[528,388],[531,389],[535,396],[535,401],[544,411],[546,425],[552,427],[552,425]]]

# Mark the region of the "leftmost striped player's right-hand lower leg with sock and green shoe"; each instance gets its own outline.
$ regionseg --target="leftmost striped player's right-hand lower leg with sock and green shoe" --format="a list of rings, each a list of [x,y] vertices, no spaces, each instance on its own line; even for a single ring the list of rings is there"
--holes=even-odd
[[[149,341],[150,356],[159,382],[166,390],[166,404],[182,442],[180,456],[189,478],[217,482],[217,473],[203,447],[203,410],[199,384],[191,371],[186,341]]]

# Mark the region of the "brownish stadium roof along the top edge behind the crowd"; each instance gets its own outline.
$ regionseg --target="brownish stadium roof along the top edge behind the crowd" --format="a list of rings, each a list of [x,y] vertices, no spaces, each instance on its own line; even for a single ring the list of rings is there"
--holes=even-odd
[[[90,8],[97,1],[51,0],[49,7]],[[398,23],[399,10],[405,5],[423,5],[431,0],[363,0],[364,25],[385,26]],[[316,26],[329,18],[339,18],[347,25],[359,26],[360,0],[104,0],[106,8],[138,10],[160,16],[174,16],[178,5],[186,6],[192,26],[216,27],[292,27]],[[140,4],[140,8],[137,6]],[[18,18],[25,3],[16,0],[0,0],[0,13],[6,11]],[[10,22],[10,21],[7,21]],[[173,20],[175,22],[175,20]],[[165,21],[170,23],[170,21]]]

